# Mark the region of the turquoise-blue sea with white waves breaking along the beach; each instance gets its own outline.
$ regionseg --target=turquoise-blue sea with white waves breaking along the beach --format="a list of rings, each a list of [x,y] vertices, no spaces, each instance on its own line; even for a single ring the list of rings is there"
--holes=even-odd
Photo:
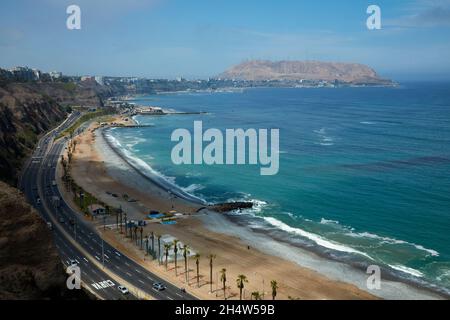
[[[250,89],[141,97],[204,115],[137,116],[109,134],[172,183],[209,202],[253,200],[265,228],[327,255],[450,290],[450,84]],[[280,171],[172,164],[176,128],[279,128]],[[144,168],[143,168],[144,170]],[[255,222],[257,223],[257,222]]]

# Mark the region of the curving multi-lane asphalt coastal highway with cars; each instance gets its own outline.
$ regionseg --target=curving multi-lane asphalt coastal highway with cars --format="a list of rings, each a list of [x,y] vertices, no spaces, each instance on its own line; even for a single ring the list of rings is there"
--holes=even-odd
[[[71,116],[72,117],[72,116]],[[76,116],[73,116],[76,117]],[[66,122],[74,120],[70,117]],[[64,125],[67,127],[67,125]],[[62,130],[62,129],[59,129]],[[55,240],[63,262],[75,259],[82,271],[82,281],[103,299],[120,299],[124,296],[118,285],[107,274],[120,277],[140,290],[139,295],[162,300],[191,300],[192,295],[182,292],[179,287],[165,282],[155,274],[143,268],[134,260],[104,242],[95,228],[83,219],[83,216],[63,201],[57,186],[56,165],[66,145],[66,139],[54,141],[57,131],[50,132],[38,143],[34,160],[22,176],[22,189],[30,203],[35,206],[46,221],[52,222]],[[55,201],[54,199],[60,199]],[[74,222],[74,223],[70,223]],[[96,261],[93,261],[93,260]],[[84,272],[84,273],[83,273]],[[114,286],[98,290],[98,283],[111,281]],[[109,283],[108,281],[108,283]],[[163,291],[153,289],[155,282],[166,286]],[[188,289],[188,288],[186,288]],[[133,292],[134,293],[134,292]],[[138,298],[144,298],[139,297]]]

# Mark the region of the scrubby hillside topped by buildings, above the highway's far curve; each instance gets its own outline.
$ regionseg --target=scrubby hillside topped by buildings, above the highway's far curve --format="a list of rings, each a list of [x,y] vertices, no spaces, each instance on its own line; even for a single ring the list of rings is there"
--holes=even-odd
[[[60,123],[73,105],[101,106],[106,88],[92,82],[0,82],[0,180],[15,184],[38,136]]]

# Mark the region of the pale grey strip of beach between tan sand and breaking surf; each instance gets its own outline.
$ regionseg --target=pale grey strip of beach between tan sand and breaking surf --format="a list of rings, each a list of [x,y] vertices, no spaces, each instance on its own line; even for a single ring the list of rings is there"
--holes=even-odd
[[[126,185],[128,188],[135,189],[140,189],[144,185],[147,186],[148,184],[153,184],[154,186],[156,186],[156,189],[159,189],[159,193],[155,193],[154,189],[152,190],[151,188],[146,188],[146,194],[156,194],[157,197],[160,197],[160,200],[162,201],[170,199],[170,196],[167,197],[166,195],[166,197],[164,197],[162,193],[166,192],[170,194],[171,192],[173,192],[173,188],[171,188],[171,186],[167,186],[167,184],[160,184],[159,181],[153,181],[153,174],[152,176],[143,174],[139,170],[139,168],[133,166],[133,164],[130,163],[128,159],[126,159],[126,156],[121,154],[121,151],[118,151],[119,147],[112,146],[111,142],[109,142],[108,139],[104,137],[104,129],[102,129],[102,132],[100,134],[96,135],[96,138],[95,149],[98,151],[100,157],[103,160],[108,159],[107,161],[104,161],[104,165],[107,168],[105,172],[110,174],[114,180],[116,180],[121,185]],[[119,162],[124,163],[120,164]],[[111,172],[116,170],[115,167],[120,165],[133,170],[135,173],[134,176],[140,177],[140,180],[147,180],[146,183],[137,180],[132,183],[130,179],[124,179],[125,177],[118,175],[117,172]],[[168,188],[165,189],[165,187]],[[177,200],[183,200],[186,202],[190,201],[189,197]],[[185,203],[185,205],[189,206],[190,204]],[[265,255],[278,257],[289,262],[293,262],[298,266],[299,269],[307,268],[311,272],[317,273],[318,275],[326,277],[327,279],[335,281],[336,283],[346,283],[357,287],[358,290],[362,290],[364,292],[368,292],[369,294],[374,294],[377,297],[386,299],[442,298],[440,294],[431,292],[431,290],[428,290],[426,288],[418,288],[414,287],[411,284],[399,281],[391,281],[388,279],[382,280],[382,290],[369,291],[366,288],[366,279],[368,275],[366,275],[363,270],[358,270],[354,266],[343,262],[333,261],[328,257],[321,256],[314,250],[309,250],[310,248],[301,248],[299,246],[294,246],[291,243],[283,241],[282,239],[273,237],[267,232],[264,232],[264,230],[255,232],[255,230],[252,230],[251,228],[245,226],[245,219],[242,219],[242,217],[240,218],[210,211],[203,211],[201,214],[198,214],[198,217],[201,221],[202,226],[210,232],[235,237],[239,239],[239,241],[251,246],[252,248],[258,248],[258,250]],[[269,243],[270,246],[267,245]]]

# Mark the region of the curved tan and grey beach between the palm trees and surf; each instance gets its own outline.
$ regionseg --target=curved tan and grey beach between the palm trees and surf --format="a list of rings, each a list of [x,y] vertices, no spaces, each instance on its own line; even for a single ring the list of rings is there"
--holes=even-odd
[[[115,122],[121,122],[117,119]],[[188,244],[193,251],[200,253],[200,287],[195,279],[195,262],[190,258],[189,284],[185,283],[183,257],[179,255],[178,276],[175,276],[174,264],[169,270],[160,266],[158,261],[149,260],[131,240],[126,239],[115,228],[106,231],[98,227],[99,232],[111,244],[124,250],[130,257],[145,265],[164,279],[186,287],[190,293],[201,299],[223,299],[221,284],[217,284],[218,272],[227,270],[227,298],[239,299],[236,278],[244,274],[245,298],[253,291],[264,292],[265,299],[271,299],[271,280],[279,286],[277,299],[376,299],[410,298],[434,299],[437,295],[412,286],[383,281],[381,290],[370,291],[366,288],[367,275],[351,266],[330,261],[288,243],[274,240],[268,235],[252,232],[233,223],[223,214],[206,210],[196,213],[201,204],[192,203],[176,197],[172,192],[145,179],[128,163],[117,155],[105,141],[98,124],[89,126],[76,138],[77,148],[73,158],[72,176],[78,185],[94,194],[101,201],[115,207],[121,206],[129,219],[142,220],[149,210],[168,212],[176,210],[183,213],[177,224],[163,225],[150,222],[144,228],[144,234],[154,232],[158,235],[170,235]],[[117,128],[116,130],[120,130]],[[126,194],[136,199],[128,202]],[[109,223],[114,224],[111,217]],[[213,293],[209,292],[208,254],[215,254],[213,271]]]

